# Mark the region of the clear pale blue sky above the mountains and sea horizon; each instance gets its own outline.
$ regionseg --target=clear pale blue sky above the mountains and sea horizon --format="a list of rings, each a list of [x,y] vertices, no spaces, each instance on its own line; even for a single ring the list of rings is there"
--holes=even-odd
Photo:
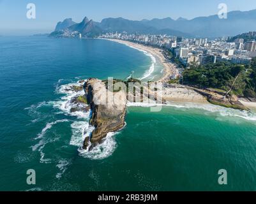
[[[26,18],[28,3],[36,5],[36,19]],[[68,17],[75,22],[85,16],[95,21],[106,17],[191,19],[217,14],[220,3],[226,3],[229,11],[256,9],[255,0],[0,0],[0,34],[50,32]]]

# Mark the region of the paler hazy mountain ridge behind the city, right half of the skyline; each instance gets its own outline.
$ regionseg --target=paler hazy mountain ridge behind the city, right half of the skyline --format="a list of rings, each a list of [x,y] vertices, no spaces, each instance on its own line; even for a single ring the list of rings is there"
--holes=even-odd
[[[209,17],[197,17],[192,20],[178,18],[158,19],[143,21],[144,25],[150,25],[157,29],[173,29],[193,36],[215,38],[218,36],[235,36],[239,33],[251,31],[256,25],[256,10],[230,11],[227,19],[220,19],[218,15]]]

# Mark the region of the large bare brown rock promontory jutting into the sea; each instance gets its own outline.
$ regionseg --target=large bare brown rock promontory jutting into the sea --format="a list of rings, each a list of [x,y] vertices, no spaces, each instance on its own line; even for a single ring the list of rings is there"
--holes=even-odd
[[[100,143],[107,133],[115,132],[124,127],[126,114],[126,92],[110,92],[105,84],[91,78],[84,85],[87,103],[91,107],[90,124],[94,126],[91,136],[84,140],[84,149]]]

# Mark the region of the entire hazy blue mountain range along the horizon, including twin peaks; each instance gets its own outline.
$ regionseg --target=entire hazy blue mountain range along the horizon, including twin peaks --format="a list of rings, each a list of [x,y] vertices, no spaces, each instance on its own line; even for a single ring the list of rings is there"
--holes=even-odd
[[[84,18],[79,24],[67,18],[58,22],[55,31],[50,36],[65,37],[73,32],[83,37],[95,37],[107,32],[123,32],[128,34],[167,34],[184,37],[235,36],[256,28],[256,10],[230,11],[227,19],[220,19],[218,15],[197,17],[192,20],[186,18],[154,18],[152,20],[127,20],[124,18],[105,18],[102,22],[94,22]]]

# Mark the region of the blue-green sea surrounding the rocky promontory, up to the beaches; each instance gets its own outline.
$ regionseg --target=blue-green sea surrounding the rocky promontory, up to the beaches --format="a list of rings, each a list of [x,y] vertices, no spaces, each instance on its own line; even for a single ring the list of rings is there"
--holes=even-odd
[[[1,37],[0,190],[255,191],[255,113],[192,103],[154,113],[128,107],[124,129],[80,151],[88,115],[66,111],[66,87],[131,71],[140,77],[151,64],[110,41]],[[26,184],[28,169],[36,170],[35,186]],[[220,169],[227,186],[218,185]]]

